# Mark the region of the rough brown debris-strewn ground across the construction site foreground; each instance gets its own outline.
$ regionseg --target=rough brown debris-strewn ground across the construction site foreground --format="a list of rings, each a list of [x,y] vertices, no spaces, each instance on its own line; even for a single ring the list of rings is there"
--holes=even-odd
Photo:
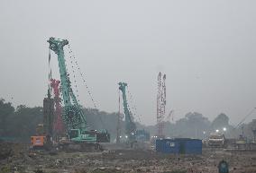
[[[217,173],[226,160],[230,173],[256,173],[256,151],[203,149],[202,155],[143,150],[30,151],[29,145],[0,143],[0,173]]]

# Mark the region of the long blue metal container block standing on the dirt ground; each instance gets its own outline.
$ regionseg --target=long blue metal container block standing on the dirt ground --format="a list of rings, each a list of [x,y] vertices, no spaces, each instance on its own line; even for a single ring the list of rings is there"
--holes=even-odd
[[[189,138],[157,139],[156,151],[175,154],[202,154],[202,140]]]

